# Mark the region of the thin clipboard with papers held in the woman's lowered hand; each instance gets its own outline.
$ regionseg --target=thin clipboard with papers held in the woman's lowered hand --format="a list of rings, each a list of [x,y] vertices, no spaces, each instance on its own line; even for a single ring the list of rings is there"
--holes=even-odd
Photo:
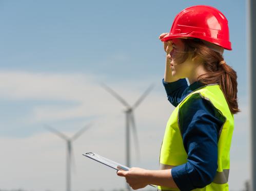
[[[117,162],[114,162],[108,158],[105,158],[101,155],[98,155],[96,153],[93,153],[93,152],[88,152],[88,153],[85,153],[83,154],[84,156],[92,159],[92,160],[95,160],[97,162],[100,162],[102,164],[105,164],[107,166],[109,166],[110,168],[112,169],[115,169],[117,171],[129,171],[130,168],[123,165],[123,164],[120,164],[120,163],[117,163]],[[150,186],[153,186],[153,187],[156,187],[156,185],[152,185],[152,184],[149,184]]]

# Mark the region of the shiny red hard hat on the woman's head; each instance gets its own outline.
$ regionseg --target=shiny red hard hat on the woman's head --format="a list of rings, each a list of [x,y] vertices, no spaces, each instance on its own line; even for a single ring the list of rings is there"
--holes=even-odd
[[[228,20],[214,7],[197,5],[184,9],[176,15],[169,35],[162,41],[184,37],[199,38],[232,50]]]

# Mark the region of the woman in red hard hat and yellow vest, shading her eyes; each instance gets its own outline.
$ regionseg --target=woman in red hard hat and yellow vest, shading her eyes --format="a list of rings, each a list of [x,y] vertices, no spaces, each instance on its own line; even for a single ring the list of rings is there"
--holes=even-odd
[[[239,109],[237,74],[222,56],[231,50],[227,23],[219,10],[193,6],[160,35],[167,53],[163,84],[176,108],[166,126],[161,170],[117,172],[133,189],[228,190],[233,114]]]

